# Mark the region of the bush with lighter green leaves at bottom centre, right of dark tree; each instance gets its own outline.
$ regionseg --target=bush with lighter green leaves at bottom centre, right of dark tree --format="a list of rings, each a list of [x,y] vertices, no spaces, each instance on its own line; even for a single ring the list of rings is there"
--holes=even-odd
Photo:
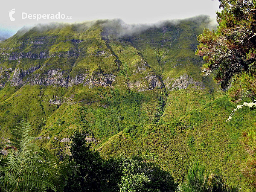
[[[156,166],[155,156],[123,158],[120,192],[174,192],[177,189],[173,177]]]

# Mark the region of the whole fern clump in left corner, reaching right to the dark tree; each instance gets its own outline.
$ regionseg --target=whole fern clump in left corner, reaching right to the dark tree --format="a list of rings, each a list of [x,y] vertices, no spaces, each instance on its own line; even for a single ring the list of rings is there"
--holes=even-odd
[[[20,127],[12,130],[14,139],[8,143],[8,156],[0,165],[0,189],[8,192],[62,191],[70,174],[76,175],[76,164],[67,157],[59,161],[32,142],[32,125],[23,119]]]

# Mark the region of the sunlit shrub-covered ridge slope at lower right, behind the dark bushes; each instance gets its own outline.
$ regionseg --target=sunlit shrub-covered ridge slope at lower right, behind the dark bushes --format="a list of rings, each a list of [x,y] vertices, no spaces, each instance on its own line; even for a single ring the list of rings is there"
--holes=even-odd
[[[226,122],[234,108],[236,105],[224,96],[172,121],[160,120],[158,125],[137,126],[132,134],[116,134],[98,150],[105,158],[155,152],[159,155],[157,164],[180,182],[189,167],[200,161],[207,172],[219,169],[227,183],[239,184],[241,190],[250,192],[253,189],[241,175],[240,165],[246,155],[241,131],[254,126],[255,110],[242,108],[232,121]],[[193,147],[189,146],[189,138],[194,138]]]

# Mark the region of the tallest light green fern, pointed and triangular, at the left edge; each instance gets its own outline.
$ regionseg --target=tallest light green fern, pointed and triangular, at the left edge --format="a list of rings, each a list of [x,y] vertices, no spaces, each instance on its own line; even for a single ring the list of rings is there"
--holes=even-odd
[[[31,126],[23,119],[20,127],[13,130],[15,139],[9,143],[9,154],[5,167],[1,167],[4,178],[1,180],[1,191],[57,191],[53,183],[52,170],[44,161],[42,151],[31,142]]]

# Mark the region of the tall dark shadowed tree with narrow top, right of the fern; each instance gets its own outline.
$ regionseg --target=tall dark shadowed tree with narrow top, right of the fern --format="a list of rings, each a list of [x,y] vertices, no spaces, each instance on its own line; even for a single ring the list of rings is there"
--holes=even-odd
[[[64,187],[64,191],[86,192],[101,191],[103,177],[103,160],[98,151],[91,151],[87,144],[86,133],[75,131],[70,138],[70,158],[78,164],[77,175],[72,175]]]

